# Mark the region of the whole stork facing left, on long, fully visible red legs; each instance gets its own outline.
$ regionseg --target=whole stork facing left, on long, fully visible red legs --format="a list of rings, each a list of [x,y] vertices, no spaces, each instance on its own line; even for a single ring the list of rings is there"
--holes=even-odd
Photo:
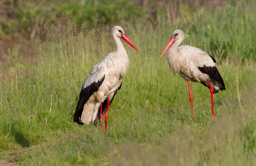
[[[214,64],[216,60],[199,48],[190,45],[180,45],[183,39],[183,31],[180,29],[173,31],[172,38],[166,45],[160,58],[168,50],[167,61],[169,62],[169,68],[172,69],[174,75],[179,72],[180,76],[187,81],[192,117],[194,115],[193,96],[189,81],[200,82],[209,88],[211,92],[212,117],[214,118],[213,93],[218,93],[219,90],[226,89],[221,74]]]

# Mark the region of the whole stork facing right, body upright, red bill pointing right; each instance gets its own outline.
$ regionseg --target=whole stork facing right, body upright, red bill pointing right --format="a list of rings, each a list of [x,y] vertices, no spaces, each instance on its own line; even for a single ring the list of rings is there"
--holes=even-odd
[[[122,76],[125,76],[130,65],[129,57],[120,38],[139,51],[125,35],[122,27],[114,26],[111,29],[111,35],[116,43],[116,51],[108,53],[90,70],[81,88],[73,119],[74,122],[82,125],[94,122],[98,116],[102,128],[102,114],[105,114],[105,131],[107,131],[109,105],[117,90],[121,88]]]

